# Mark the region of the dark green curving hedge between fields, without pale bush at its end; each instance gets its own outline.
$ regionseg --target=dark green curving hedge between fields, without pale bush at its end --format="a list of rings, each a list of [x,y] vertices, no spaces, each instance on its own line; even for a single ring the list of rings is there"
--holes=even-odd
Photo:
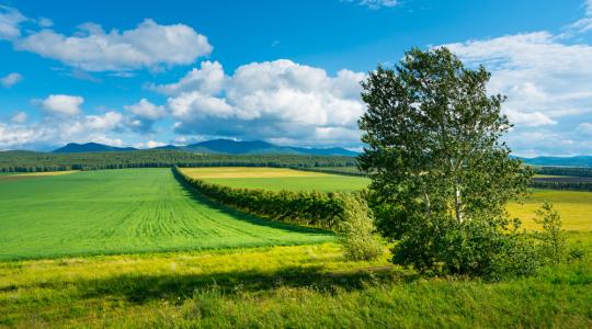
[[[292,192],[234,189],[194,179],[173,168],[175,177],[200,193],[225,205],[265,218],[337,230],[353,202],[362,202],[352,193]]]

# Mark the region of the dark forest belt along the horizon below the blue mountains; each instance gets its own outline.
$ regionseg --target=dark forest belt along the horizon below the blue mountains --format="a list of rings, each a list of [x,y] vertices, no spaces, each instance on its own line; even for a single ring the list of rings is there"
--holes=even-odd
[[[345,175],[365,175],[354,157],[303,155],[223,155],[184,150],[137,150],[111,152],[47,154],[0,152],[1,172],[39,172],[170,167],[288,167]],[[537,189],[592,191],[592,168],[533,167],[536,173],[566,178],[535,178]]]

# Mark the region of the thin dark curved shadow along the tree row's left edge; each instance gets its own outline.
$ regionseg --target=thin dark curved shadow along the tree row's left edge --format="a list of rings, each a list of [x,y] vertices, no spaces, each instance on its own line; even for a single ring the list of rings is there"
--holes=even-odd
[[[230,215],[237,219],[248,222],[250,224],[260,225],[260,226],[266,226],[275,229],[282,229],[291,232],[301,232],[301,234],[314,234],[319,236],[334,236],[334,232],[330,230],[325,230],[320,228],[312,228],[312,227],[304,227],[304,226],[297,226],[293,224],[276,222],[272,219],[264,219],[260,218],[240,211],[237,211],[230,206],[224,205],[219,202],[216,202],[202,193],[200,193],[195,188],[190,185],[184,179],[179,177],[178,173],[174,172],[174,169],[172,170],[172,175],[177,179],[179,184],[183,186],[183,190],[185,190],[186,196],[193,198],[195,202],[202,203],[207,205],[208,207],[219,209],[221,213]]]

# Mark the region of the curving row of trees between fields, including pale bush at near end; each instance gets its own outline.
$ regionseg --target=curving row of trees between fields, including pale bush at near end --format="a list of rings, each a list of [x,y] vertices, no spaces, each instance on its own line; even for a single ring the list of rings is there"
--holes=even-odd
[[[240,211],[273,220],[338,232],[352,260],[371,260],[383,253],[374,218],[363,193],[291,192],[234,189],[206,183],[184,174],[174,175],[201,194]]]

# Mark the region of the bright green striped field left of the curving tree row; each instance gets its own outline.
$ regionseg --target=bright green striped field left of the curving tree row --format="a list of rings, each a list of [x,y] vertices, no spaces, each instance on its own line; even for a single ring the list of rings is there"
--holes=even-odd
[[[218,207],[169,169],[79,172],[0,182],[0,259],[331,240]]]

